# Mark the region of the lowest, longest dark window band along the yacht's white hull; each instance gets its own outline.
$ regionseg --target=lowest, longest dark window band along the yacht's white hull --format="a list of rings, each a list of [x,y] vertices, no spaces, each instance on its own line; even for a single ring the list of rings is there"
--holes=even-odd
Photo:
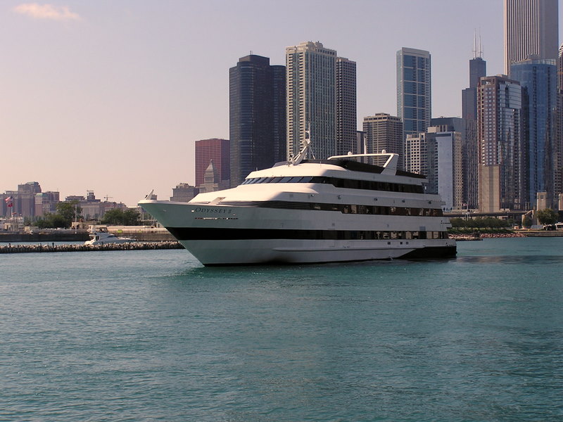
[[[372,230],[293,230],[293,229],[213,229],[167,227],[179,241],[247,241],[289,239],[303,241],[374,241],[447,239],[446,231],[372,231]]]

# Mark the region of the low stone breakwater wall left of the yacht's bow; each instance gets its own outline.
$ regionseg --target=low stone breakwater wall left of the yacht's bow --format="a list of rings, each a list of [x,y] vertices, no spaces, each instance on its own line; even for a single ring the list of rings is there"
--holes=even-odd
[[[1,253],[25,252],[89,252],[92,250],[155,250],[182,249],[178,242],[106,243],[104,245],[2,245]]]

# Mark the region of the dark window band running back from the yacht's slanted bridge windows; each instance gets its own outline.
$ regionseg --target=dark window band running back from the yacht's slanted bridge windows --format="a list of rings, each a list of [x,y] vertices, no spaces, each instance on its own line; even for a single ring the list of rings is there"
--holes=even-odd
[[[362,189],[365,191],[424,193],[424,187],[422,185],[389,183],[387,181],[339,179],[337,177],[326,176],[252,177],[250,179],[244,179],[242,182],[243,185],[262,183],[317,183],[331,184],[336,188]]]

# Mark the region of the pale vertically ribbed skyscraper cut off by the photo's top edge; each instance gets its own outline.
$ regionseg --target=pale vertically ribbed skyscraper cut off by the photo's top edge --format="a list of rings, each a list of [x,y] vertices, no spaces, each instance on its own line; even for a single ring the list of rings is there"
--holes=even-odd
[[[504,0],[505,74],[510,65],[537,58],[557,58],[559,11],[557,0]]]

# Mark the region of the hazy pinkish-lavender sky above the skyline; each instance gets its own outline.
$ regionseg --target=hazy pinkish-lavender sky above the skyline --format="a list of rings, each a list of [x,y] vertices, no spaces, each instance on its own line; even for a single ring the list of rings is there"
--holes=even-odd
[[[433,117],[461,114],[475,31],[502,72],[501,0],[2,0],[0,23],[0,191],[129,206],[194,184],[194,141],[229,138],[229,68],[250,51],[285,64],[321,41],[355,60],[359,129],[396,115],[403,46],[431,52]]]

